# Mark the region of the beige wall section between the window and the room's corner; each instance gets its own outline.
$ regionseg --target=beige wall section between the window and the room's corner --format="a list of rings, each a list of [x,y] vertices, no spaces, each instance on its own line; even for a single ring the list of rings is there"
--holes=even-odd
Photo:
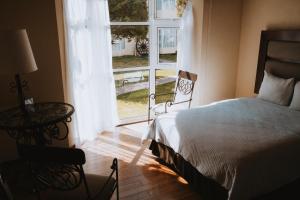
[[[194,104],[234,98],[242,0],[193,2],[197,42],[194,71],[199,75]]]

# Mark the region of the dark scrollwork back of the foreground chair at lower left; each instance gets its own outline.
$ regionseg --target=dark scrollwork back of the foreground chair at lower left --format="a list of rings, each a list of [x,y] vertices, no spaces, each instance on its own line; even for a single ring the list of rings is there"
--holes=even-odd
[[[18,153],[30,165],[37,192],[49,188],[68,191],[79,187],[82,182],[86,184],[82,167],[85,154],[81,149],[19,144]]]

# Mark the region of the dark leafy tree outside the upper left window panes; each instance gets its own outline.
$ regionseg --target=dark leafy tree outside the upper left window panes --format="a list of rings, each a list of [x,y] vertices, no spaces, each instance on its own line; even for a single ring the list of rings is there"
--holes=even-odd
[[[147,0],[109,0],[110,20],[117,22],[148,21]],[[127,38],[129,41],[146,39],[147,26],[113,26],[113,39]]]

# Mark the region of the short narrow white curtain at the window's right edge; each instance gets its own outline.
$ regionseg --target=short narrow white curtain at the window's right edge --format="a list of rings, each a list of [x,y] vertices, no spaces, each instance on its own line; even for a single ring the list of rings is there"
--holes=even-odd
[[[193,56],[193,33],[194,33],[194,18],[192,2],[187,2],[180,21],[180,34],[178,44],[178,68],[190,71],[192,69]]]

